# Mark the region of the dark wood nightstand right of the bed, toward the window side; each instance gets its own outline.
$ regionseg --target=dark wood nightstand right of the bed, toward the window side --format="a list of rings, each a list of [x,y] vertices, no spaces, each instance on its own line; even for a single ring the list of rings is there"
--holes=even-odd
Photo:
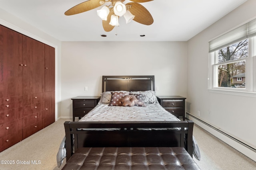
[[[185,120],[185,99],[182,96],[157,96],[158,102],[164,109]]]

